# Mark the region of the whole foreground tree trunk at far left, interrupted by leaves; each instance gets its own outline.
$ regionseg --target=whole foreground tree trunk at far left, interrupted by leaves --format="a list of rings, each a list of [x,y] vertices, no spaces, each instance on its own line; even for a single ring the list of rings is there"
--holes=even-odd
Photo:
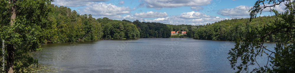
[[[13,26],[14,19],[16,18],[16,10],[15,10],[15,2],[16,0],[9,0],[9,3],[13,4],[12,5],[12,14],[11,14],[11,19],[10,19],[10,25]],[[14,45],[8,44],[7,45],[7,62],[6,62],[6,73],[13,73],[13,63],[14,63]]]

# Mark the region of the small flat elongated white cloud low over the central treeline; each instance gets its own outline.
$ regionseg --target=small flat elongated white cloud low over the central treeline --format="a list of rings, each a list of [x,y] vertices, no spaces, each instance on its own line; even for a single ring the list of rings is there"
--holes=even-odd
[[[163,18],[167,17],[168,14],[166,12],[161,13],[161,12],[153,12],[153,11],[148,11],[148,12],[142,12],[142,13],[134,13],[134,16],[141,17],[141,18]]]

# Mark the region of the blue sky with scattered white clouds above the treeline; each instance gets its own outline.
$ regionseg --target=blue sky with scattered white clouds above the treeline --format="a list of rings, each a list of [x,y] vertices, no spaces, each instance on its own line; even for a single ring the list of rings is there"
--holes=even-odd
[[[250,18],[249,10],[257,0],[54,0],[79,14],[94,18],[159,22],[172,25],[206,25],[232,18]],[[285,11],[283,4],[273,9]],[[272,16],[265,9],[257,16]]]

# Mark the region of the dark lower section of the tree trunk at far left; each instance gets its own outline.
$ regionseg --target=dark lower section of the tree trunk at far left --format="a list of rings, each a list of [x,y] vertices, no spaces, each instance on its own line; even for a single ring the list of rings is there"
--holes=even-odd
[[[13,73],[13,62],[14,62],[14,45],[8,44],[7,45],[7,64],[6,64],[6,73]]]

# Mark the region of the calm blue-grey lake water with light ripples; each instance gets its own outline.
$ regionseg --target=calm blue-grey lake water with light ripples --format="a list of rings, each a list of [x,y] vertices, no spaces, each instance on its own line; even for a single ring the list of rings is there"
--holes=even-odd
[[[227,53],[234,45],[192,38],[98,40],[45,44],[31,55],[40,63],[64,68],[58,71],[63,73],[232,73]],[[266,63],[267,58],[258,62]]]

